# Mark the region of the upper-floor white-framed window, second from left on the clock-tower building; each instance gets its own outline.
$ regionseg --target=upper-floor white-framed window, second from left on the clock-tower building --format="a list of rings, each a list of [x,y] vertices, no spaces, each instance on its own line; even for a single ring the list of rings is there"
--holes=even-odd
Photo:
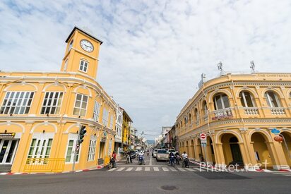
[[[52,98],[50,98],[52,94]],[[60,97],[61,96],[61,97]],[[56,98],[57,97],[57,98]],[[44,112],[42,113],[42,109],[40,109],[40,114],[59,114],[61,111],[61,103],[64,97],[64,92],[45,92],[44,100],[42,101],[42,109]],[[47,101],[45,101],[47,99]],[[45,104],[44,104],[45,101]],[[51,102],[51,104],[49,104]],[[56,104],[54,104],[56,102]],[[52,109],[55,107],[54,111]],[[49,112],[47,113],[47,109]]]

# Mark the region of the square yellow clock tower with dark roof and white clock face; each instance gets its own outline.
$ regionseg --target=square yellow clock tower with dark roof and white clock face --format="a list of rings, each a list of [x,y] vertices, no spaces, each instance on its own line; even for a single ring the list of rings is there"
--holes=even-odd
[[[82,73],[96,79],[102,41],[75,26],[66,43],[61,71]]]

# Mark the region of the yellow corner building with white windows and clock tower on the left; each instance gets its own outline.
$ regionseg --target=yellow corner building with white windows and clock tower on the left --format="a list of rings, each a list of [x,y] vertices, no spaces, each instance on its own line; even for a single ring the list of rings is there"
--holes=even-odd
[[[102,42],[75,27],[66,43],[60,72],[0,72],[0,171],[71,171],[75,151],[75,170],[108,162],[117,104],[95,80]]]

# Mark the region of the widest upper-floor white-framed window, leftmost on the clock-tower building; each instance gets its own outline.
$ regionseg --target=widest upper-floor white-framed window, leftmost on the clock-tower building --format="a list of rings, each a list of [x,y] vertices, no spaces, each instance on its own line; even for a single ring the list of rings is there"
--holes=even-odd
[[[16,98],[16,95],[18,95],[17,98]],[[20,95],[23,95],[23,96],[20,98]],[[31,95],[32,97],[30,97]],[[35,97],[35,92],[8,91],[6,92],[6,95],[2,102],[0,114],[29,114],[30,107],[31,107],[34,97]],[[28,111],[26,111],[26,109],[28,109]]]

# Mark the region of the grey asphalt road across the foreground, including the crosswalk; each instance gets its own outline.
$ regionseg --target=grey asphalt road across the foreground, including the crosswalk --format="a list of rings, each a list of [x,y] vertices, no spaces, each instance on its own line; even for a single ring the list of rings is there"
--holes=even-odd
[[[264,172],[199,171],[146,157],[145,165],[68,174],[0,176],[0,193],[290,193],[291,176]],[[291,174],[290,174],[291,175]]]

